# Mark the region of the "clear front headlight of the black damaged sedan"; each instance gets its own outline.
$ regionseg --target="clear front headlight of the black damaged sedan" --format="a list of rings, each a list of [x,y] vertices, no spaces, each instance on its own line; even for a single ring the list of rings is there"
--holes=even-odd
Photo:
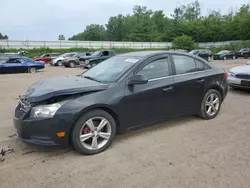
[[[53,117],[57,110],[67,101],[62,101],[54,104],[37,105],[31,109],[31,118],[49,118]]]

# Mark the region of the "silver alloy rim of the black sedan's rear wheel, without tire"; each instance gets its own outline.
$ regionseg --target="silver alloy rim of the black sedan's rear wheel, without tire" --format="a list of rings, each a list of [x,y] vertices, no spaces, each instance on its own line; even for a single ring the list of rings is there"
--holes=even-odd
[[[216,93],[211,93],[206,100],[205,110],[209,116],[213,116],[220,108],[220,98]]]

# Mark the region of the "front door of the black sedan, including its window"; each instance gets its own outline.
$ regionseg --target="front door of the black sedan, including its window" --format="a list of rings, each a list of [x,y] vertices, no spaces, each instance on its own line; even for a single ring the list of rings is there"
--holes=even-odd
[[[144,75],[148,83],[127,87],[123,102],[127,128],[157,122],[172,115],[173,76],[168,56],[154,57],[134,74]]]

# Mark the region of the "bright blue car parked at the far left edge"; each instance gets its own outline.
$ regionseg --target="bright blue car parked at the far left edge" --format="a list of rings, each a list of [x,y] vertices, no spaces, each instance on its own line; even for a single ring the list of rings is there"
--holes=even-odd
[[[0,73],[35,73],[44,67],[43,61],[34,61],[28,57],[10,57],[0,60]]]

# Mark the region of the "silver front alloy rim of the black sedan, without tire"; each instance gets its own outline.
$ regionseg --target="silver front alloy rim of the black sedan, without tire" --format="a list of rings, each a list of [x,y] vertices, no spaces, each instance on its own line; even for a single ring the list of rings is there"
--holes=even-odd
[[[79,139],[83,147],[98,150],[104,147],[111,137],[110,122],[104,117],[93,117],[82,126]]]

